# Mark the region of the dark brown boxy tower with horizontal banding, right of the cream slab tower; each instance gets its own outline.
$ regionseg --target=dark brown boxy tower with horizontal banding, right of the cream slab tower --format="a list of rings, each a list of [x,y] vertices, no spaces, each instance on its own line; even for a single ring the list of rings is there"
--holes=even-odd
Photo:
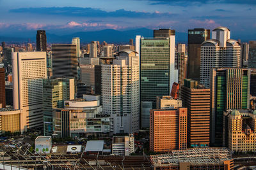
[[[76,45],[52,45],[52,78],[77,79]]]

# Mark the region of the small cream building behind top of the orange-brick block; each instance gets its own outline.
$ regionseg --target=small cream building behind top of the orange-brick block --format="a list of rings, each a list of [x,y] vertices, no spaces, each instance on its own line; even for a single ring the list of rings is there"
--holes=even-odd
[[[182,107],[182,101],[180,99],[173,99],[172,96],[157,96],[156,97],[156,109],[177,109]]]

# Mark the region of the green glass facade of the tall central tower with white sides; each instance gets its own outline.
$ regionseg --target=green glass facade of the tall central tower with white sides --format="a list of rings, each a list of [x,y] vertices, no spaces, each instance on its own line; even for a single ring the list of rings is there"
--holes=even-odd
[[[156,96],[170,95],[170,40],[141,39],[140,55],[141,101],[156,108]]]

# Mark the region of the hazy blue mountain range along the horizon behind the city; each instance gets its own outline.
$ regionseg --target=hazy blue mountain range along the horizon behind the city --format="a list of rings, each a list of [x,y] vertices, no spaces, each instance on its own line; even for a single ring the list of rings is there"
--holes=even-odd
[[[17,35],[17,32],[15,32]],[[31,36],[34,35],[35,36]],[[88,31],[88,32],[75,32],[73,34],[67,35],[57,35],[52,34],[51,31],[47,31],[47,43],[71,43],[73,37],[79,37],[81,43],[90,43],[90,41],[106,41],[107,43],[128,43],[129,39],[135,39],[136,35],[141,35],[145,38],[153,37],[152,29],[132,29],[127,31],[117,31],[114,29],[104,29],[101,31]],[[187,34],[184,32],[176,31],[176,43],[186,43]],[[6,41],[10,43],[26,43],[28,39],[31,39],[31,42],[36,41],[36,31],[31,32],[20,32],[19,36],[1,36],[0,41]]]

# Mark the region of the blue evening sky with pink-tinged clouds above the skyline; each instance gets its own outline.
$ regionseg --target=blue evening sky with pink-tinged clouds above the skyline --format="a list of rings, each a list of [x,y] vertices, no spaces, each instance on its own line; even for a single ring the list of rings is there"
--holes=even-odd
[[[230,28],[237,37],[256,31],[255,0],[0,0],[0,35],[171,27]]]

